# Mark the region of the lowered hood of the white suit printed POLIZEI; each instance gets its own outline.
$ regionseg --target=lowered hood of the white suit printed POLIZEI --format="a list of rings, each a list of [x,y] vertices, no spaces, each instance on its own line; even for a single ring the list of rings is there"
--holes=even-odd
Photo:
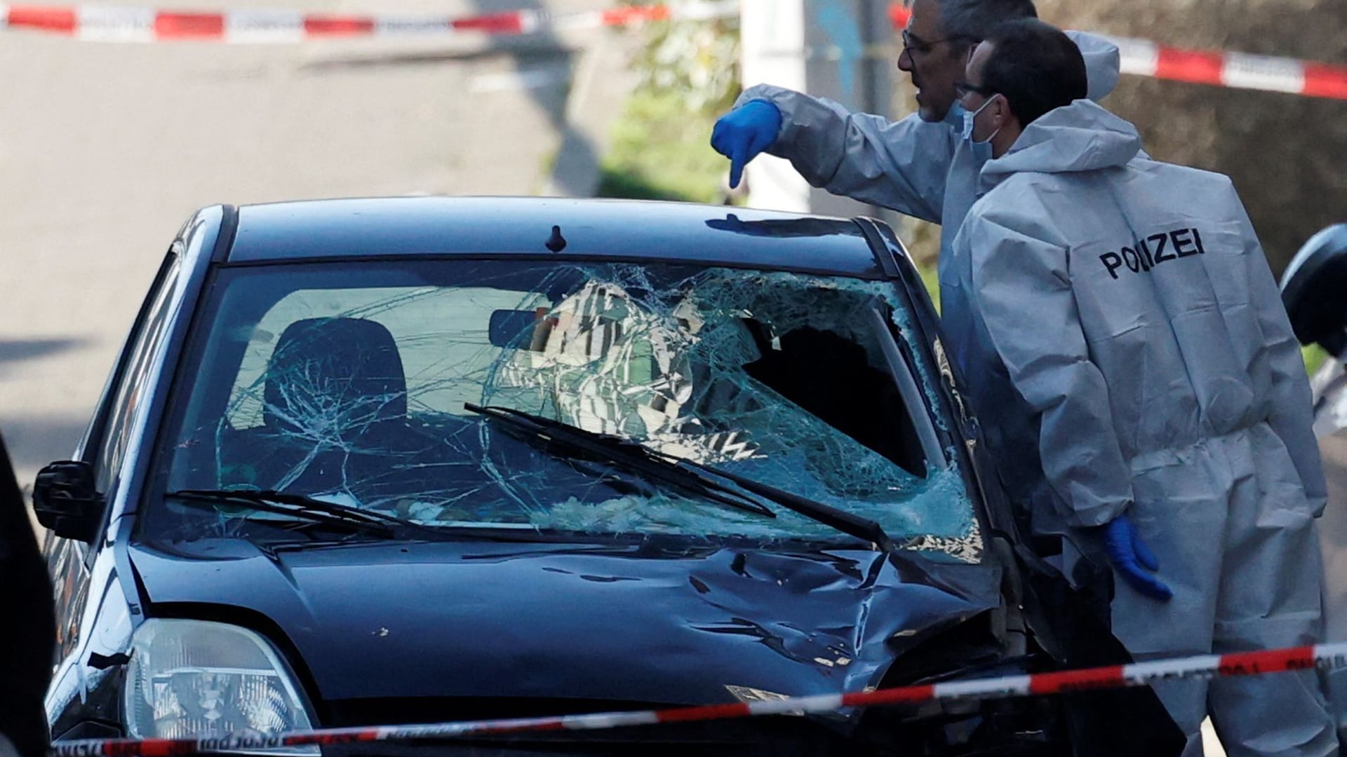
[[[1090,100],[1049,110],[1020,135],[1009,152],[982,167],[982,191],[1012,174],[1071,174],[1126,166],[1141,154],[1130,123]]]

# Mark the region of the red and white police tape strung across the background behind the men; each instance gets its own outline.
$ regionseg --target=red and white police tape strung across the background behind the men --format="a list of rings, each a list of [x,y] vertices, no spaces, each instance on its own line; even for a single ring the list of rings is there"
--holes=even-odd
[[[737,0],[687,0],[577,12],[511,11],[459,18],[247,9],[193,12],[121,5],[0,3],[0,28],[38,30],[96,42],[210,40],[248,44],[455,32],[516,35],[660,20],[706,20],[735,13]],[[901,3],[896,3],[890,7],[889,18],[896,27],[901,27],[907,24],[908,13]],[[1347,100],[1347,66],[1243,53],[1183,50],[1145,39],[1110,39],[1122,50],[1125,74]]]

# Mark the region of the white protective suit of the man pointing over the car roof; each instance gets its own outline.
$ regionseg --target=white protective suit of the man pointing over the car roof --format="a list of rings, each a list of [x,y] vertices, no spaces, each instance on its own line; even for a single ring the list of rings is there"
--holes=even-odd
[[[1118,46],[1067,34],[1086,59],[1090,98],[1102,100],[1118,85]],[[940,322],[946,346],[958,353],[971,323],[964,294],[950,275],[948,252],[977,199],[978,172],[991,156],[990,145],[974,148],[962,139],[963,108],[955,102],[940,123],[916,113],[889,121],[769,85],[749,88],[735,106],[750,100],[768,100],[781,110],[781,131],[766,152],[788,159],[810,185],[940,224]]]

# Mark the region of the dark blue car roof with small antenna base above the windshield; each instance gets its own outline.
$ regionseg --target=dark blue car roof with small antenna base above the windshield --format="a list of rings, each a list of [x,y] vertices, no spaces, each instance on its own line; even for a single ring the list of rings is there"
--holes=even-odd
[[[552,228],[566,246],[550,251]],[[318,199],[238,209],[229,263],[385,256],[684,261],[884,279],[861,225],[718,205],[529,197]]]

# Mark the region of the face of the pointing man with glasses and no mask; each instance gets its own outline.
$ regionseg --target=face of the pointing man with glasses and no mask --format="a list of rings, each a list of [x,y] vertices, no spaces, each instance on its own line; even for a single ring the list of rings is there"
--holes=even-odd
[[[940,28],[939,0],[916,0],[902,31],[898,69],[912,74],[917,112],[924,121],[940,121],[954,105],[954,82],[963,78],[967,39],[948,38]]]

